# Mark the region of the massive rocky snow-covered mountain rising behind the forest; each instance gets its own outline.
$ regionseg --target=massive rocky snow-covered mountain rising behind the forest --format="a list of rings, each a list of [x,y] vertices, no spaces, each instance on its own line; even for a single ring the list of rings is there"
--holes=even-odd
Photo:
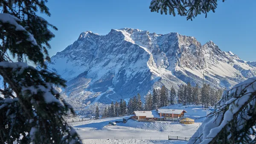
[[[256,63],[221,51],[212,41],[201,45],[195,37],[130,28],[108,35],[82,32],[47,65],[68,81],[63,94],[82,103],[108,104],[162,85],[201,85],[203,72],[207,84],[227,88],[256,76]]]

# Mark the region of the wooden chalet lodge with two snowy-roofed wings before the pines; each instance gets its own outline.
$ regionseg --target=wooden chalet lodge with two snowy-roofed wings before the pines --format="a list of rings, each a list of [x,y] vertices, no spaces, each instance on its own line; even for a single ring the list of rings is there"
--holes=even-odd
[[[131,119],[137,121],[180,121],[184,118],[185,110],[157,109],[151,111],[134,111]]]

